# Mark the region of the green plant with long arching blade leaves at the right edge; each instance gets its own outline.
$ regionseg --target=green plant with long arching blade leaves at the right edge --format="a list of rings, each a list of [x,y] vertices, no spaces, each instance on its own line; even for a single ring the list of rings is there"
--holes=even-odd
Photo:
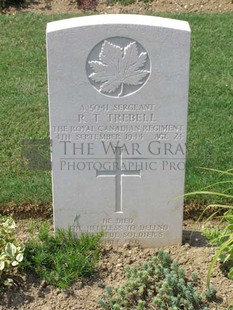
[[[203,168],[206,169],[206,168]],[[219,174],[220,180],[214,184],[209,185],[203,190],[189,193],[186,195],[211,195],[226,198],[233,202],[233,169],[222,171],[216,169],[207,169]],[[216,190],[219,188],[220,190]],[[208,205],[199,217],[203,217],[208,209],[213,208],[214,211],[207,218],[206,222],[214,217],[220,218],[219,227],[204,227],[203,234],[208,239],[209,243],[217,247],[217,251],[211,261],[207,274],[207,285],[210,286],[210,278],[213,267],[217,261],[220,261],[228,271],[228,277],[233,280],[233,205],[224,204],[210,204]],[[223,210],[223,215],[218,215],[219,210]]]

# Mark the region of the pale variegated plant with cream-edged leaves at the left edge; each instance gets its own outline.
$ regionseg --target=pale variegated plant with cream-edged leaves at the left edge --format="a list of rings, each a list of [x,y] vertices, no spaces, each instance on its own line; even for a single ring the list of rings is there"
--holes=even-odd
[[[10,285],[9,278],[23,260],[23,248],[15,238],[16,224],[11,217],[0,216],[0,285]]]

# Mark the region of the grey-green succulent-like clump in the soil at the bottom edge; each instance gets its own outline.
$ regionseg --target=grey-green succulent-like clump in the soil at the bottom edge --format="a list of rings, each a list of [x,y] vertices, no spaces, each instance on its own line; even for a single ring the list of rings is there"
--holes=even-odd
[[[105,310],[208,309],[197,293],[198,277],[185,278],[184,269],[168,252],[159,251],[138,267],[126,266],[127,281],[107,287],[99,304]],[[213,295],[209,292],[208,297]]]

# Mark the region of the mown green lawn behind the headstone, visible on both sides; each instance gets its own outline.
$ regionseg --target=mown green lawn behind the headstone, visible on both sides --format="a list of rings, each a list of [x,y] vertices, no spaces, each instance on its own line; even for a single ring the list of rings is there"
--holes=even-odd
[[[189,21],[192,51],[186,191],[217,182],[198,167],[227,170],[232,159],[232,14],[163,14]],[[51,202],[49,171],[21,167],[21,144],[49,137],[46,23],[73,15],[0,16],[0,203]],[[193,198],[187,198],[193,199]],[[201,202],[204,198],[197,198]]]

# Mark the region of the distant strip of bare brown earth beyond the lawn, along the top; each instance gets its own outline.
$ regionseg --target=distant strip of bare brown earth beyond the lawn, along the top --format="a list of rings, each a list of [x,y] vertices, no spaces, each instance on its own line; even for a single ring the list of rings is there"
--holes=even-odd
[[[90,0],[87,0],[90,2]],[[233,0],[153,0],[147,3],[135,1],[134,4],[124,6],[119,3],[110,5],[114,0],[97,0],[96,13],[141,13],[152,12],[232,12]],[[93,8],[94,9],[94,8]],[[17,11],[34,13],[82,13],[76,0],[41,0],[25,1],[18,8],[8,7],[5,13],[14,14]]]

